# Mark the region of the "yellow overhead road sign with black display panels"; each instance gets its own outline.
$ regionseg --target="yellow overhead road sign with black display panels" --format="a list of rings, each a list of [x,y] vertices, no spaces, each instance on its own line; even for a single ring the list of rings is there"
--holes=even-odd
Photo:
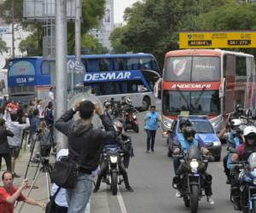
[[[256,31],[179,32],[180,49],[256,48]]]

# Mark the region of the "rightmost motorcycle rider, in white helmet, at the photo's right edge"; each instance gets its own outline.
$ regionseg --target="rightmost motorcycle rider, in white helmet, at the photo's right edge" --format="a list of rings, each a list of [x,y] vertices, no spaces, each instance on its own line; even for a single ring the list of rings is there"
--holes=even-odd
[[[237,163],[239,160],[241,161],[247,161],[251,153],[256,152],[256,127],[254,126],[247,126],[243,130],[243,138],[244,143],[239,145],[236,148],[236,153],[232,154],[232,162]],[[241,203],[240,203],[240,181],[236,180],[231,185],[231,193],[233,193],[233,198],[235,201],[235,210],[241,210]]]

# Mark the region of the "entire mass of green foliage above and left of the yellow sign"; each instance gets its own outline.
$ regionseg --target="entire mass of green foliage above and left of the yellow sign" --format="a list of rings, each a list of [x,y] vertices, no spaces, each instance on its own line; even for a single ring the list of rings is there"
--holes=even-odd
[[[256,3],[144,0],[126,9],[124,19],[126,25],[115,29],[110,37],[113,51],[148,52],[161,65],[167,51],[178,49],[178,32],[255,30]]]

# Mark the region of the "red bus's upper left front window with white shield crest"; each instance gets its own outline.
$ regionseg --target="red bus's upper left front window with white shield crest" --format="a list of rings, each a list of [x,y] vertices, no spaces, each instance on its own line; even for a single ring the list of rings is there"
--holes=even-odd
[[[166,81],[190,82],[192,57],[169,57],[166,59],[164,78]]]

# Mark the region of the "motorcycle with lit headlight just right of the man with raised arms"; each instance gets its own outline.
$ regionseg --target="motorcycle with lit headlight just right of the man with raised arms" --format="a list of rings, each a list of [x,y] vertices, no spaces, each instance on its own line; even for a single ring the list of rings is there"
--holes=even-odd
[[[119,173],[119,161],[124,157],[124,153],[120,150],[117,145],[107,145],[104,147],[102,160],[107,162],[108,168],[104,181],[110,185],[113,195],[118,192],[118,184],[122,183]]]

